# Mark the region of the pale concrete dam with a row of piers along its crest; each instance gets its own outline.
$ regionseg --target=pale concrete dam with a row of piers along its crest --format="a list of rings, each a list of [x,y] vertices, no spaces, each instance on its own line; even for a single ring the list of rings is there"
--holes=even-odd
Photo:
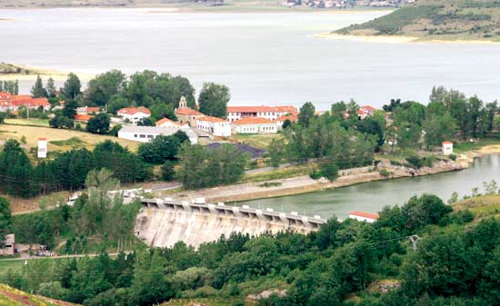
[[[170,199],[141,199],[143,207],[135,222],[135,235],[151,247],[172,247],[185,242],[197,248],[232,232],[256,236],[264,232],[314,232],[324,219],[296,212],[274,212],[224,203],[176,202]]]

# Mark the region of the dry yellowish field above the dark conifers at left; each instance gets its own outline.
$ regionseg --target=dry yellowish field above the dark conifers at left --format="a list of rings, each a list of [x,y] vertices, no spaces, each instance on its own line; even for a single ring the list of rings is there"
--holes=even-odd
[[[136,142],[120,139],[113,136],[96,135],[93,133],[85,133],[74,130],[53,129],[44,126],[28,126],[19,124],[22,124],[22,121],[16,124],[1,124],[0,140],[7,140],[12,138],[21,142],[24,136],[26,145],[35,148],[37,146],[38,138],[44,137],[49,141],[49,153],[51,151],[67,151],[78,147],[85,147],[90,150],[95,146],[95,144],[102,143],[105,140],[111,140],[120,143],[121,145],[128,147],[131,151],[134,152],[138,147],[138,143]]]

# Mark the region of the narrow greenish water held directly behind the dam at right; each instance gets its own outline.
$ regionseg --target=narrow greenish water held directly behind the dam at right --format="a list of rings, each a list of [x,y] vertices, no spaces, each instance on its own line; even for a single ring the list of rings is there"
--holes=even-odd
[[[255,208],[273,208],[279,212],[299,212],[322,218],[334,215],[347,218],[351,211],[380,212],[385,205],[404,204],[415,194],[434,193],[447,202],[453,192],[459,198],[483,190],[484,182],[500,183],[500,154],[475,159],[471,167],[452,173],[361,183],[325,192],[312,192],[280,198],[237,202]],[[233,204],[233,203],[231,203]]]

